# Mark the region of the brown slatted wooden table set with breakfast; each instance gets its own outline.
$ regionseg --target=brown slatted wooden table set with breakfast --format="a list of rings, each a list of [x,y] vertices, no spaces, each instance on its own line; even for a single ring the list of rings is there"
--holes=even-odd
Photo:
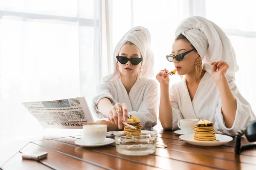
[[[108,138],[114,138],[108,133]],[[218,147],[201,147],[188,144],[173,131],[158,130],[157,143],[166,144],[166,149],[157,148],[148,156],[125,156],[116,152],[115,144],[103,147],[79,147],[74,142],[82,136],[68,136],[33,140],[21,147],[1,170],[77,170],[77,169],[250,169],[256,170],[256,150],[246,150],[241,155],[234,153],[234,140]],[[242,144],[247,144],[242,138]],[[31,150],[47,151],[48,157],[40,161],[23,160],[21,153]],[[3,154],[3,153],[1,153]]]

